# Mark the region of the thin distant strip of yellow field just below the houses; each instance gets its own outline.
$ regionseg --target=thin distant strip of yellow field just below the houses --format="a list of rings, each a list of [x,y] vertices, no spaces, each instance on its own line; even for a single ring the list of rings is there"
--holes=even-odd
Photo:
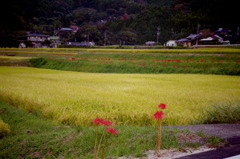
[[[0,53],[15,54],[76,54],[88,53],[192,53],[192,54],[239,54],[236,48],[186,48],[186,49],[112,49],[112,48],[0,48]]]

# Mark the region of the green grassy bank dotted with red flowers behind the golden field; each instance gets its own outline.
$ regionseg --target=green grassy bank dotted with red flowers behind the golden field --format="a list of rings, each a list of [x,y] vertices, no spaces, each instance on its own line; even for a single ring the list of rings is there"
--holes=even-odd
[[[75,57],[32,59],[41,68],[99,73],[198,73],[240,75],[238,56],[164,56],[149,54],[79,54]]]

